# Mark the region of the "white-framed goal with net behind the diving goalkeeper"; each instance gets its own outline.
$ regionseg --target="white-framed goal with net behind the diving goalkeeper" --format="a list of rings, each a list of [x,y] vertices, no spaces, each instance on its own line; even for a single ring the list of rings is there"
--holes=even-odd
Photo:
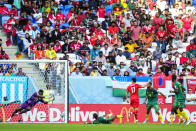
[[[15,115],[10,122],[67,123],[68,65],[65,60],[0,61],[0,122],[7,122],[40,89],[44,101],[30,111]]]

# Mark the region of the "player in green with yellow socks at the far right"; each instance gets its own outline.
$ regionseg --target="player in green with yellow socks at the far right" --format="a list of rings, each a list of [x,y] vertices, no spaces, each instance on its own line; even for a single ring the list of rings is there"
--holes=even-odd
[[[185,107],[185,88],[183,87],[182,83],[177,80],[176,75],[172,76],[172,82],[173,88],[174,88],[174,93],[175,93],[175,98],[174,98],[174,104],[172,106],[172,111],[171,111],[171,124],[173,123],[174,119],[174,113],[177,112],[177,110],[180,110],[180,115],[182,115],[186,119],[186,125],[189,125],[191,123],[189,117],[187,116],[186,112],[183,110]]]

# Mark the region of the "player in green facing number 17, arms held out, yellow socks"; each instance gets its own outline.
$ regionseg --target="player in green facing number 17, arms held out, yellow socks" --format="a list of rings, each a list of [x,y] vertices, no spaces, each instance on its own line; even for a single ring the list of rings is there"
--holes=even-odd
[[[163,93],[157,91],[157,89],[152,87],[151,82],[148,83],[147,90],[146,90],[146,99],[143,103],[145,104],[146,100],[148,99],[147,106],[146,106],[147,107],[146,120],[144,121],[144,123],[148,122],[150,110],[152,107],[154,107],[157,115],[159,116],[159,119],[161,120],[161,123],[164,124],[162,115],[159,112],[160,108],[158,105],[158,94],[161,94],[164,98],[166,98],[166,96]]]

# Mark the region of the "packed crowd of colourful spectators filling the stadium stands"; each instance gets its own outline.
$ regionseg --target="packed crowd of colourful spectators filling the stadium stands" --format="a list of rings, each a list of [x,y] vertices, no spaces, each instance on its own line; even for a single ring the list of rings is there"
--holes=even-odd
[[[69,60],[72,76],[196,76],[194,0],[0,4],[0,25],[7,39],[29,59],[54,60],[64,54],[60,59]],[[9,59],[0,43],[0,59]]]

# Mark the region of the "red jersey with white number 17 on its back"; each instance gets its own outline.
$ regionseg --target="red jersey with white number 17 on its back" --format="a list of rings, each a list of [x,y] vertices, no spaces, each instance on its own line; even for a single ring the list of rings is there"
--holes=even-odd
[[[138,90],[142,88],[141,85],[132,83],[127,87],[127,93],[130,93],[130,100],[139,99]]]

